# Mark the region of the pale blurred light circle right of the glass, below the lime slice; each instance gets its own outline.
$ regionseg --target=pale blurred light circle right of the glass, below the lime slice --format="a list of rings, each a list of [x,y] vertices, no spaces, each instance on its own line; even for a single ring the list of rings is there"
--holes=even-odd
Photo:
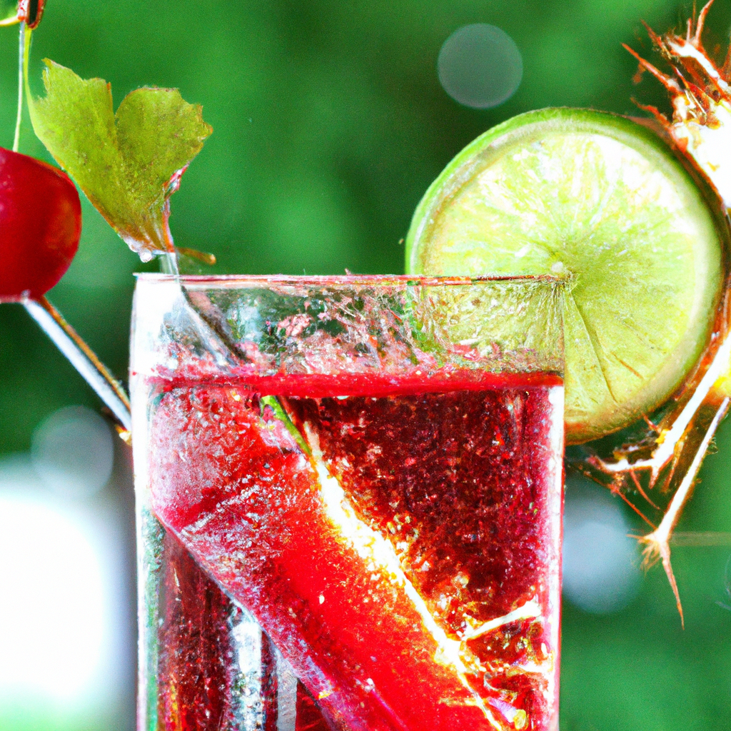
[[[564,514],[564,596],[592,614],[617,612],[637,596],[637,541],[627,534],[620,504],[599,485],[567,480]]]

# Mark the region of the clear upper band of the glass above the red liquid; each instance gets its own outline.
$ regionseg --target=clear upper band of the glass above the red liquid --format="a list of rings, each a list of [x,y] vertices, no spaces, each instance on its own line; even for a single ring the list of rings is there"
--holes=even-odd
[[[404,358],[412,355],[414,363],[426,366],[434,352],[442,354],[437,359],[442,365],[434,366],[440,372],[449,365],[562,374],[564,284],[566,278],[552,274],[144,273],[135,287],[132,368],[140,373],[177,369],[178,357],[173,364],[165,354],[167,343],[178,338],[186,344],[181,352],[213,354],[214,370],[235,370],[246,362],[268,376],[360,373],[363,368],[390,373],[398,363],[403,369]],[[365,351],[359,345],[366,345]],[[249,346],[255,346],[254,355]],[[336,347],[344,355],[334,365],[308,360]],[[149,363],[138,365],[143,352],[162,354],[161,360],[150,355]]]

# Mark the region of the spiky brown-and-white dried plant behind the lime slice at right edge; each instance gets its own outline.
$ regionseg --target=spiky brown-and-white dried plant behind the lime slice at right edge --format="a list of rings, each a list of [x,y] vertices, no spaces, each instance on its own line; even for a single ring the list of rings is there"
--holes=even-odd
[[[652,113],[673,145],[719,196],[723,213],[731,208],[731,47],[719,67],[702,43],[703,27],[713,0],[688,20],[684,36],[672,31],[660,36],[645,28],[672,72],[666,74],[625,46],[637,58],[643,72],[650,72],[667,89],[673,116],[667,118],[656,107],[639,105]],[[590,456],[579,469],[623,497],[653,530],[640,537],[645,545],[645,566],[661,560],[673,588],[683,620],[678,584],[670,562],[670,539],[683,507],[691,496],[694,482],[713,436],[729,409],[731,396],[731,311],[730,281],[719,306],[711,344],[670,408],[658,424],[647,420],[643,439],[625,444],[609,459]],[[651,499],[670,496],[667,507],[659,510]],[[648,510],[637,507],[640,496]],[[657,499],[657,498],[656,498]],[[659,501],[659,499],[658,499]],[[662,520],[655,525],[646,513],[659,510]]]

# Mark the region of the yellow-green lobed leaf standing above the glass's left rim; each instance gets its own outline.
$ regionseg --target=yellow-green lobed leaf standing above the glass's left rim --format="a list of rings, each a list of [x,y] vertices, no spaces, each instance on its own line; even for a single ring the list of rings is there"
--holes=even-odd
[[[177,89],[139,88],[114,113],[111,86],[45,60],[33,128],[86,197],[143,261],[173,251],[169,199],[213,131]]]

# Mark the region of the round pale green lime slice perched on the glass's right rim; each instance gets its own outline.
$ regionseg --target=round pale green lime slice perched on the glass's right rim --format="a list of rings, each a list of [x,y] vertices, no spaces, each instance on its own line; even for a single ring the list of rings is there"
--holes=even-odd
[[[512,118],[450,162],[406,239],[409,273],[564,273],[569,442],[662,404],[700,359],[725,229],[653,132],[612,114]]]

